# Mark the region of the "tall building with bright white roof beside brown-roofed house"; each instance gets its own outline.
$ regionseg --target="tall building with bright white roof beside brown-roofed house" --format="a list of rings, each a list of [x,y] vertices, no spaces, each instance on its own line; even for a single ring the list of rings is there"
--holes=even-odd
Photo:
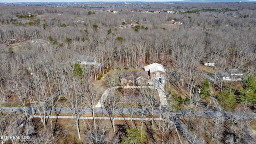
[[[160,78],[166,73],[162,64],[153,63],[144,66],[144,70],[148,72],[150,77]]]

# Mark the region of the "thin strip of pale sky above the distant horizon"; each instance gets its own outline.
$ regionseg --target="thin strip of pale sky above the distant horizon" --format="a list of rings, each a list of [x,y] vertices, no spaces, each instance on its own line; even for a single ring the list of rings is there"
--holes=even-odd
[[[183,0],[0,0],[0,2],[130,2],[130,1],[141,1],[141,2],[171,2],[171,1],[183,1]],[[207,2],[208,0],[201,0]],[[223,0],[224,2],[226,0]],[[233,0],[233,2],[239,2],[240,0]],[[256,0],[247,0],[256,2]],[[193,0],[191,0],[193,2]],[[220,2],[218,0],[218,2]],[[241,0],[243,2],[243,0]]]

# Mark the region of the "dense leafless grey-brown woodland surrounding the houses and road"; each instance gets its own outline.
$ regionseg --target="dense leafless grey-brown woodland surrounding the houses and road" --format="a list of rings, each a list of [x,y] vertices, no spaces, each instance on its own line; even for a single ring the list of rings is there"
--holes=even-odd
[[[248,116],[254,114],[256,104],[255,8],[256,3],[0,5],[0,103],[23,109],[22,113],[1,109],[1,136],[31,136],[29,140],[8,141],[17,144],[128,144],[133,140],[256,143],[255,128],[250,127],[253,120]],[[120,28],[129,24],[137,26]],[[33,44],[36,39],[47,42]],[[100,66],[74,64],[80,55],[97,58]],[[215,63],[210,85],[208,73],[200,67],[203,61]],[[102,94],[97,90],[97,79],[102,75],[123,67],[141,70],[154,62],[166,68],[169,104],[160,108],[152,99],[146,100],[151,96],[145,94],[136,100],[140,114],[131,112],[129,116],[150,115],[175,122],[173,114],[186,110],[179,116],[185,127],[179,129],[181,138],[168,122],[119,122],[115,128],[114,121],[79,119],[84,115],[83,107],[88,107],[93,117],[97,115],[94,105]],[[243,70],[245,81],[218,79],[228,68]],[[120,86],[118,76],[106,75],[105,86]],[[106,105],[113,118],[118,115],[118,98],[115,94],[108,97]],[[212,97],[219,108],[212,104]],[[31,114],[26,109],[28,102],[34,102],[37,113],[44,116],[58,115],[47,111],[49,107],[69,107],[70,115],[76,118],[68,122],[74,126],[64,127],[64,120],[34,118],[14,131]],[[146,112],[153,108],[159,112]],[[200,115],[207,112],[214,114]]]

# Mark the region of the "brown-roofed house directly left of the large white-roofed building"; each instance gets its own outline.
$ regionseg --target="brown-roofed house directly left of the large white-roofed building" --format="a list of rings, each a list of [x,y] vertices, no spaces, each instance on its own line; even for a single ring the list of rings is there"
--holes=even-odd
[[[134,83],[137,85],[147,85],[148,80],[148,72],[144,70],[138,72],[125,72],[120,77],[121,84]]]

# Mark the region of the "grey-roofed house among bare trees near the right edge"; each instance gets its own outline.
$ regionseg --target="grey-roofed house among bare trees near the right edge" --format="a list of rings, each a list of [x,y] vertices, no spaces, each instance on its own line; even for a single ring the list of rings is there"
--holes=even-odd
[[[241,80],[244,80],[245,76],[242,70],[227,69],[226,72],[220,73],[220,78],[222,80],[228,80],[228,81],[241,81]]]

